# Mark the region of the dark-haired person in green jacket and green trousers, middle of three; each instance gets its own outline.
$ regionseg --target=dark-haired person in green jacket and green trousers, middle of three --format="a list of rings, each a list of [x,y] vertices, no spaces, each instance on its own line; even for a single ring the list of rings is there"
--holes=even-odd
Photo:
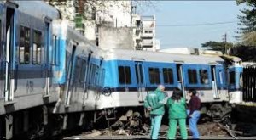
[[[172,97],[167,100],[167,107],[169,111],[169,130],[167,133],[168,139],[175,139],[177,132],[177,123],[180,128],[182,139],[188,138],[186,127],[186,100],[183,98],[183,92],[175,88]]]

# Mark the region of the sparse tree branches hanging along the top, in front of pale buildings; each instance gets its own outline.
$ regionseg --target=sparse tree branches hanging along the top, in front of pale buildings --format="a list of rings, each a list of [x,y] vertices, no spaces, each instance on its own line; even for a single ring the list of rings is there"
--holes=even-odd
[[[113,1],[104,1],[104,0],[44,0],[46,3],[53,5],[55,8],[61,9],[61,13],[65,14],[65,18],[68,20],[73,20],[72,10],[67,8],[73,8],[74,12],[83,16],[84,20],[95,20],[96,13],[102,13],[107,16],[109,15],[109,9],[114,6],[123,8],[124,11],[130,12],[131,6],[137,8],[143,7],[154,7],[154,2],[151,0],[140,1],[140,0],[113,0]],[[64,9],[63,9],[64,8]],[[70,17],[71,16],[71,17]]]

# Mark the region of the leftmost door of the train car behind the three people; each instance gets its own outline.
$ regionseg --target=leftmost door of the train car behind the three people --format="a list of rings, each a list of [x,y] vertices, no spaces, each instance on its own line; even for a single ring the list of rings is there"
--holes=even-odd
[[[139,102],[143,102],[145,95],[145,81],[144,81],[144,70],[143,70],[143,62],[135,61],[135,73],[137,79],[137,97]]]

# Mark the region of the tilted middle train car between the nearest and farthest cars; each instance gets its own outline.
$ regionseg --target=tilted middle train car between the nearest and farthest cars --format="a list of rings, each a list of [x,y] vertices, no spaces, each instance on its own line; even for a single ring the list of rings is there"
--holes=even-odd
[[[102,95],[106,53],[70,28],[67,20],[53,21],[53,36],[57,48],[53,76],[60,91],[52,114],[63,118],[59,121],[61,126],[55,125],[54,128],[61,131],[72,129],[77,124],[83,126],[84,112],[97,109],[88,103],[91,100],[96,102]]]

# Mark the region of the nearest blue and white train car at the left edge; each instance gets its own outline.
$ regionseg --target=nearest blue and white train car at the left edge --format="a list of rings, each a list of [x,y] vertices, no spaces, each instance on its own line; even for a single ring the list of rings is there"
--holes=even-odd
[[[2,1],[0,15],[0,136],[10,139],[47,125],[47,104],[58,90],[51,21],[61,15],[42,1]]]

